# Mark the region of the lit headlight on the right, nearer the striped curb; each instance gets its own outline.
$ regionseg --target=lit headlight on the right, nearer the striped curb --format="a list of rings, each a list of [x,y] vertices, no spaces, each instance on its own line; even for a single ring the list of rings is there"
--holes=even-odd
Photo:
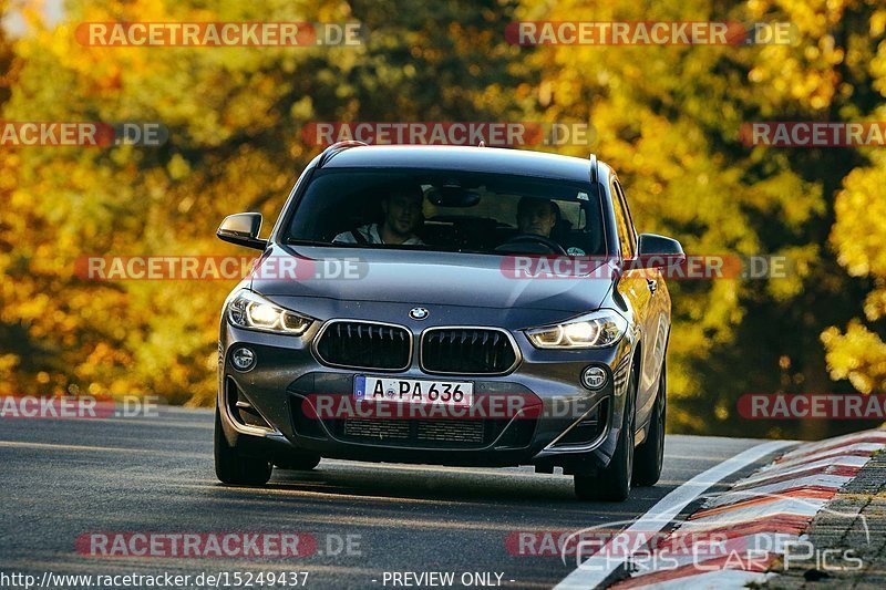
[[[601,309],[563,323],[526,330],[537,349],[601,349],[621,340],[628,321],[610,309]]]

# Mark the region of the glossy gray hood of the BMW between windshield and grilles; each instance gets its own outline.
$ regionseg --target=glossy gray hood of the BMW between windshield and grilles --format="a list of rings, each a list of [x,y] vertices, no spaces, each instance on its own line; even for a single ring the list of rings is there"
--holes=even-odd
[[[251,288],[265,296],[329,298],[411,306],[537,309],[583,313],[600,307],[611,280],[589,276],[514,278],[505,258],[490,255],[275,246],[262,256]],[[347,259],[347,261],[344,261]],[[595,261],[588,268],[598,268]],[[297,269],[282,279],[281,266]],[[344,271],[350,278],[343,278]],[[287,275],[287,277],[290,277]]]

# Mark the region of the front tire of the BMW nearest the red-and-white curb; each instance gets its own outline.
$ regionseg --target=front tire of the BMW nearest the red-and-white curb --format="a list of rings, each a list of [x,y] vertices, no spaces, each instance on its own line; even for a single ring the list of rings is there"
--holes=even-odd
[[[576,475],[575,495],[580,500],[624,501],[630,495],[633,475],[633,400],[637,392],[637,372],[631,371],[630,387],[625,400],[621,431],[618,433],[616,452],[609,465],[597,475]]]

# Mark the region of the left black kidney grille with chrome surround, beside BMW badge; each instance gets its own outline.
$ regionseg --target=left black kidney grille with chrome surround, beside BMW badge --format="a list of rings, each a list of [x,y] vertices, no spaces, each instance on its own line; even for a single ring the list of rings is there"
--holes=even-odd
[[[317,343],[324,363],[365,369],[406,369],[410,349],[405,328],[352,321],[330,324]]]

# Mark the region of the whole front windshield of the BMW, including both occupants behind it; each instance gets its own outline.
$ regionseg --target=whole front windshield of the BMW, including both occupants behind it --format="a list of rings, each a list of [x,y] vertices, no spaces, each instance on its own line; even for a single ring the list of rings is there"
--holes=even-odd
[[[318,170],[284,240],[471,253],[606,253],[590,184],[440,169]]]

